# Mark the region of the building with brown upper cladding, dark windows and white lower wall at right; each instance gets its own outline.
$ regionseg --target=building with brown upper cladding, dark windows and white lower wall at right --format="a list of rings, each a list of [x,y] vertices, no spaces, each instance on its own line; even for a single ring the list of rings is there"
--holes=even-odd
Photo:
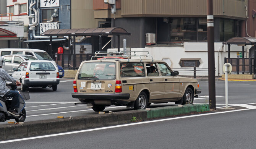
[[[166,61],[171,68],[208,67],[206,0],[115,0],[115,14],[104,2],[94,0],[94,18],[111,18],[112,27],[131,32],[131,36],[122,37],[131,50],[149,51],[154,59]],[[228,48],[223,42],[236,36],[255,37],[255,10],[254,0],[213,1],[216,76],[223,74],[227,57]],[[113,39],[115,47],[117,40]],[[237,45],[230,49],[233,58],[241,52]],[[254,56],[252,50],[251,45],[245,47],[245,58]]]

